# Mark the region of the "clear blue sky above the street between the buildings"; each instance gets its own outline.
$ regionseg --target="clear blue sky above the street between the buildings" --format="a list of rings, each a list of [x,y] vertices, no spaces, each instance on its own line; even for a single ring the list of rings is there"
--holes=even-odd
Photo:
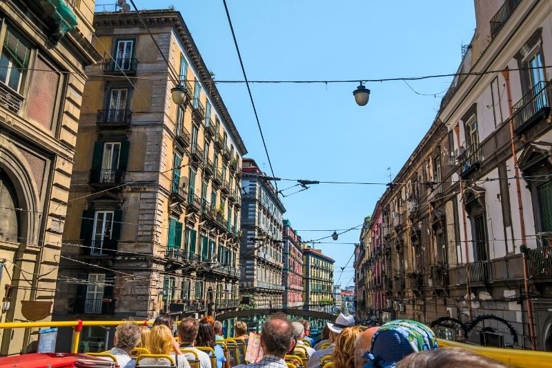
[[[106,3],[101,1],[98,3]],[[142,9],[175,6],[215,80],[243,79],[222,0],[135,0]],[[112,3],[112,1],[110,1]],[[475,29],[473,0],[227,0],[250,80],[348,80],[447,74]],[[433,122],[451,78],[369,83],[253,84],[275,176],[388,183]],[[251,157],[270,173],[244,84],[218,83]],[[433,96],[433,95],[436,96]],[[279,189],[294,185],[279,181]],[[284,191],[295,192],[296,188]],[[282,198],[284,218],[303,240],[362,224],[384,185],[319,184]],[[306,230],[325,229],[326,232]],[[335,259],[334,279],[358,243],[359,230],[316,244]],[[351,244],[343,244],[351,243]],[[353,260],[339,280],[353,285]]]

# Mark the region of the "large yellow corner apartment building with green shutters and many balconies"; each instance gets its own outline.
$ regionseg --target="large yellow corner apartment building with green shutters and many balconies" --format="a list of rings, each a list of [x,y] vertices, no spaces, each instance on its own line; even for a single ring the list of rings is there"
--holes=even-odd
[[[237,309],[246,148],[184,19],[119,10],[94,26],[104,60],[88,68],[55,317]],[[112,331],[83,336],[101,349]]]

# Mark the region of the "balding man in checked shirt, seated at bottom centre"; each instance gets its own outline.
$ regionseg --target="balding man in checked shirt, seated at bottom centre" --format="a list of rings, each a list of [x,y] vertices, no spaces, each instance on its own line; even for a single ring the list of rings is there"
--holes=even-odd
[[[264,356],[259,362],[237,365],[234,368],[287,368],[286,353],[293,339],[293,327],[285,316],[267,318],[261,331],[261,347]]]

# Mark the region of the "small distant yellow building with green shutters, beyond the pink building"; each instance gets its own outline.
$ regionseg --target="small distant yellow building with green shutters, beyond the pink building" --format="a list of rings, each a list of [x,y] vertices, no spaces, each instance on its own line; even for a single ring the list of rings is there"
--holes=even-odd
[[[304,310],[333,312],[333,263],[320,249],[303,249]]]

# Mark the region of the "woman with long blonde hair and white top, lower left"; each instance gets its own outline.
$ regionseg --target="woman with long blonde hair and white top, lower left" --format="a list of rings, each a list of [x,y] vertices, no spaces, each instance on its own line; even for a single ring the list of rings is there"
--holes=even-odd
[[[175,351],[174,338],[172,332],[166,325],[157,325],[151,329],[146,347],[151,354],[170,355],[175,358],[177,368],[190,368],[188,360],[180,353]],[[144,358],[140,360],[140,365],[161,365],[170,366],[170,361],[164,358]]]

